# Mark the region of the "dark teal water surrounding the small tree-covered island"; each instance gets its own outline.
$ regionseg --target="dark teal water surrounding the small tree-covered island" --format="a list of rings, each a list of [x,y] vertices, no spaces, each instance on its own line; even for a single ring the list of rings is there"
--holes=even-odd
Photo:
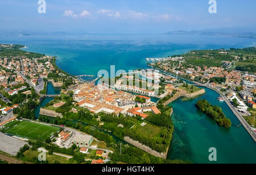
[[[218,102],[218,93],[207,89],[197,99],[182,101],[179,98],[170,105],[174,108],[172,120],[175,131],[168,152],[168,159],[191,160],[193,163],[213,163],[208,160],[210,147],[217,149],[214,163],[256,163],[256,144],[225,102]],[[232,122],[231,128],[220,127],[195,107],[199,99],[207,99],[222,108]]]

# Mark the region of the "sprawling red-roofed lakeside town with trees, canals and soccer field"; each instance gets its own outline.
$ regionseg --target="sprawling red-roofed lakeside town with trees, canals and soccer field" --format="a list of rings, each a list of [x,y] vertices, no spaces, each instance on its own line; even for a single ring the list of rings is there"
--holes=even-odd
[[[234,51],[214,51],[218,56],[233,55],[213,66],[210,61],[208,66],[195,66],[187,60],[191,55],[195,59],[197,51],[147,59],[151,61],[148,69],[112,77],[116,80],[112,84],[106,82],[111,78],[85,81],[71,76],[57,68],[56,57],[22,48],[0,47],[0,138],[5,140],[0,149],[11,156],[9,163],[125,162],[118,155],[117,140],[131,144],[123,149],[139,150],[148,159],[158,157],[151,163],[174,163],[166,160],[174,131],[170,118],[174,111],[168,104],[180,97],[193,99],[205,94],[201,87],[217,91],[220,97],[216,101],[225,101],[255,138],[256,76],[232,69],[243,60],[243,56],[233,56]],[[203,59],[216,56],[207,53]],[[234,59],[230,61],[230,57]],[[59,88],[59,94],[48,94],[49,88]],[[47,148],[48,160],[35,157],[36,150],[42,148]]]

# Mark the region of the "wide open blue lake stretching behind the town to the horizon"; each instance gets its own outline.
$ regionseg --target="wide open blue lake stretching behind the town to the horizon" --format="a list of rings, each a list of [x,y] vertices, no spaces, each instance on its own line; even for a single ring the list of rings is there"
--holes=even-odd
[[[57,56],[57,66],[73,75],[98,70],[147,68],[147,57],[167,57],[191,49],[249,47],[255,39],[175,35],[0,36],[0,43],[26,45],[27,51]]]

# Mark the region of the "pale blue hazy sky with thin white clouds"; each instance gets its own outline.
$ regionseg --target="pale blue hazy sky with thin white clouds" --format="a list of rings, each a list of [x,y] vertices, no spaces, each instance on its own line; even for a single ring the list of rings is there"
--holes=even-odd
[[[158,34],[172,30],[255,26],[255,0],[0,0],[0,29]]]

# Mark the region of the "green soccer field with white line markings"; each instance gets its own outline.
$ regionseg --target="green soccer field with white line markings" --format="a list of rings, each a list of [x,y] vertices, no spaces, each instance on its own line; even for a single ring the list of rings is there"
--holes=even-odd
[[[60,128],[57,127],[27,121],[14,121],[8,123],[5,128],[5,132],[7,134],[19,136],[20,138],[40,141],[45,141],[47,138],[52,136],[54,132],[60,130]]]

